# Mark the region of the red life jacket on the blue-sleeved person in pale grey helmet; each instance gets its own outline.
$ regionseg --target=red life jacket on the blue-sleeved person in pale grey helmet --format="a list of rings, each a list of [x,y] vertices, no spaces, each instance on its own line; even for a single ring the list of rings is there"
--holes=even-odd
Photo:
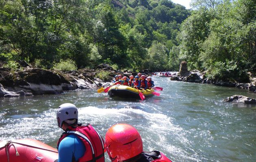
[[[104,140],[102,136],[90,125],[82,125],[76,128],[69,127],[60,137],[57,149],[61,141],[69,134],[76,134],[85,144],[85,154],[78,159],[78,162],[105,162]]]

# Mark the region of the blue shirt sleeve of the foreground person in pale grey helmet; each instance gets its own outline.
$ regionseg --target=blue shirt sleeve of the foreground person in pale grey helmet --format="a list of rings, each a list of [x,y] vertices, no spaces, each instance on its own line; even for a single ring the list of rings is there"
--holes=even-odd
[[[59,144],[59,160],[58,162],[72,162],[74,157],[78,161],[85,154],[84,143],[75,135],[66,136]]]

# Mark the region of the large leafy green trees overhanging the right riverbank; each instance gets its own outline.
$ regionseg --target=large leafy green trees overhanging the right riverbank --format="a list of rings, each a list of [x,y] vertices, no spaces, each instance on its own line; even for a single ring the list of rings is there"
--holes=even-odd
[[[253,0],[194,0],[198,11],[186,19],[179,34],[180,59],[211,78],[247,82],[256,73],[256,4]],[[170,53],[171,55],[171,53]]]

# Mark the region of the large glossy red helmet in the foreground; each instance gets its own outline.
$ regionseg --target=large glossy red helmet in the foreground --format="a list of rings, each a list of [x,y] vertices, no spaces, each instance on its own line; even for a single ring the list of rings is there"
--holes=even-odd
[[[139,132],[129,124],[115,124],[106,132],[106,150],[112,162],[133,158],[143,151]]]

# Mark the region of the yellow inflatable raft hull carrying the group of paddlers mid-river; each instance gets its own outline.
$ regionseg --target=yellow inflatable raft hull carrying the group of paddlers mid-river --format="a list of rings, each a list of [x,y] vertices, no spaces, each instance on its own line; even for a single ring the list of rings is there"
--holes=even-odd
[[[151,92],[154,92],[153,89],[151,90],[139,90],[145,98],[154,96]],[[126,85],[113,85],[108,90],[108,95],[111,97],[122,97],[122,98],[140,98],[139,92],[137,88],[129,87]]]

